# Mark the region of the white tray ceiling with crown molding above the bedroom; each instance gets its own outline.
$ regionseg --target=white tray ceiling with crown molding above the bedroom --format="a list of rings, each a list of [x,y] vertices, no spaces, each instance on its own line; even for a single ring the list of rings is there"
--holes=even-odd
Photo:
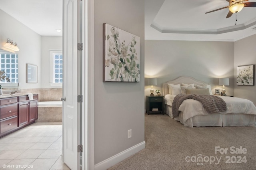
[[[145,0],[145,39],[236,41],[256,34],[256,8],[244,7],[230,18],[228,8],[205,14],[228,5],[226,0]]]

